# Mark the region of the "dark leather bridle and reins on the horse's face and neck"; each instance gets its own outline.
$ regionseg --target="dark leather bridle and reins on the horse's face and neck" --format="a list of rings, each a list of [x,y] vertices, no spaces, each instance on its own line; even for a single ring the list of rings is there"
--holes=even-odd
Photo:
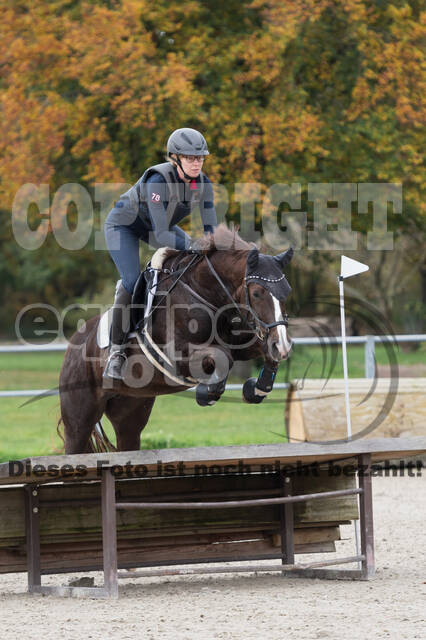
[[[196,258],[200,258],[200,259],[196,260]],[[188,271],[188,269],[191,266],[193,266],[194,264],[200,264],[203,260],[206,261],[210,272],[212,273],[214,278],[217,280],[217,282],[219,283],[221,289],[225,292],[226,296],[231,301],[232,306],[237,311],[238,316],[234,316],[234,318],[232,318],[232,320],[231,320],[231,323],[236,324],[236,322],[239,321],[239,322],[243,322],[244,325],[248,327],[247,330],[240,330],[240,333],[243,333],[245,331],[249,331],[250,333],[254,333],[256,335],[256,337],[261,342],[265,342],[268,339],[269,332],[271,331],[271,329],[273,329],[275,327],[278,327],[278,326],[288,327],[288,315],[287,314],[283,315],[283,319],[282,320],[277,320],[275,322],[269,322],[269,323],[264,322],[263,320],[261,320],[259,318],[259,316],[256,314],[255,310],[253,309],[253,307],[250,304],[250,296],[249,296],[249,291],[248,291],[248,284],[249,283],[247,282],[247,269],[246,269],[246,275],[244,277],[244,295],[245,295],[245,305],[244,306],[245,306],[246,313],[243,315],[243,313],[241,311],[242,305],[239,305],[235,301],[235,299],[233,298],[233,296],[232,296],[231,292],[229,291],[228,287],[225,285],[225,283],[223,282],[222,278],[219,276],[219,274],[217,273],[216,269],[214,268],[214,266],[212,265],[211,261],[209,260],[208,256],[205,255],[205,254],[204,255],[200,255],[200,254],[196,253],[194,255],[193,259],[183,269],[178,269],[176,271],[170,270],[170,269],[163,269],[162,270],[163,273],[166,273],[168,275],[166,275],[166,278],[163,278],[161,280],[161,284],[167,278],[169,278],[169,277],[171,277],[173,275],[179,274],[179,277],[173,282],[173,284],[169,287],[169,289],[164,293],[164,295],[162,296],[162,299],[164,297],[166,297],[172,291],[172,289],[174,289],[174,287],[179,283],[182,286],[184,286],[185,289],[190,291],[191,294],[195,298],[197,298],[198,300],[203,302],[205,305],[210,307],[210,309],[214,310],[215,312],[219,311],[218,307],[216,307],[211,302],[209,302],[208,300],[203,298],[203,296],[201,296],[199,293],[194,291],[194,289],[190,285],[188,285],[186,282],[183,282],[183,280],[182,280],[182,276],[184,275],[184,273],[186,273],[186,271]],[[152,312],[158,306],[159,305],[157,304],[155,307],[153,307],[152,308]]]

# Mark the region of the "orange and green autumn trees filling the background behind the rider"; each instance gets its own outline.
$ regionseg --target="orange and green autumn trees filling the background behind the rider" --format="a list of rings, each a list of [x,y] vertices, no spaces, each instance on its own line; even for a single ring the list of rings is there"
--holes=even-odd
[[[28,301],[64,305],[115,277],[94,235],[79,251],[51,233],[37,250],[19,246],[10,220],[20,187],[48,184],[52,201],[62,185],[78,183],[94,201],[96,183],[133,183],[161,161],[168,134],[183,125],[205,133],[206,171],[229,188],[228,217],[237,222],[237,182],[261,185],[262,197],[272,184],[300,183],[308,224],[310,182],[402,183],[403,215],[389,213],[399,250],[367,255],[384,280],[380,295],[364,294],[394,314],[401,291],[385,287],[385,274],[397,254],[408,255],[405,291],[426,303],[425,13],[417,0],[17,0],[3,2],[0,17],[6,324]],[[40,213],[29,211],[34,228],[42,228]],[[260,214],[258,205],[262,229]],[[78,212],[64,204],[62,215],[72,228]],[[354,209],[359,251],[371,225],[371,213]],[[310,249],[306,236],[299,256],[303,303],[331,286],[337,256]]]

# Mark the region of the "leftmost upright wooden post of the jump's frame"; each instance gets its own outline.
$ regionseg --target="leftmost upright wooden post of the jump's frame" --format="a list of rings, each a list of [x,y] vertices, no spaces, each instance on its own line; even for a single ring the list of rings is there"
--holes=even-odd
[[[39,486],[25,486],[25,533],[27,539],[28,591],[41,585]]]

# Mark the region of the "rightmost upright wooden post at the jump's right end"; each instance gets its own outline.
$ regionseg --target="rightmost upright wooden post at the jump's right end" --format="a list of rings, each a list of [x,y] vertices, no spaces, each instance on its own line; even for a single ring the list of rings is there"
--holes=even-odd
[[[371,455],[358,456],[360,465],[359,486],[363,490],[359,496],[359,517],[361,525],[362,576],[365,579],[374,576],[374,529],[373,529],[373,493],[371,488]]]

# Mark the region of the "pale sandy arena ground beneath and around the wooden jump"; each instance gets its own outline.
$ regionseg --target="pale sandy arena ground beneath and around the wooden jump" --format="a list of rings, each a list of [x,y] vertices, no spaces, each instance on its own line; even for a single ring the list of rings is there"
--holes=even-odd
[[[424,640],[426,473],[374,478],[373,489],[377,573],[371,582],[276,574],[140,578],[120,583],[119,600],[99,601],[30,596],[26,576],[12,574],[0,576],[1,635],[8,640]],[[352,530],[343,528],[341,556],[353,553]],[[101,584],[101,574],[91,575]],[[68,584],[75,577],[49,576],[44,583]]]

